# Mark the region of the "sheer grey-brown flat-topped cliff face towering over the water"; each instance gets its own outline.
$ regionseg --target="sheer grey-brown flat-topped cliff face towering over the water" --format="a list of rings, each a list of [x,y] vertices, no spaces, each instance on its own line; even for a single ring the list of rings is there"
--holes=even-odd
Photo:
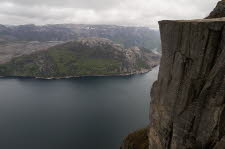
[[[225,148],[225,18],[159,22],[150,149]]]

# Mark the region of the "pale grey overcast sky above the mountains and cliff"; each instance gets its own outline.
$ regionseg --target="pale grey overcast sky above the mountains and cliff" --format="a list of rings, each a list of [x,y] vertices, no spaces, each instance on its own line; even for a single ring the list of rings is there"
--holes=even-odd
[[[0,0],[0,24],[115,24],[157,28],[203,18],[218,0]]]

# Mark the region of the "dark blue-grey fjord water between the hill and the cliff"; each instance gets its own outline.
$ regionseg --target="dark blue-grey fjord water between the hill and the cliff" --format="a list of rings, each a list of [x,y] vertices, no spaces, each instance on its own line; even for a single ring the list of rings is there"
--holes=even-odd
[[[0,79],[0,148],[119,149],[148,125],[158,67],[126,77]]]

